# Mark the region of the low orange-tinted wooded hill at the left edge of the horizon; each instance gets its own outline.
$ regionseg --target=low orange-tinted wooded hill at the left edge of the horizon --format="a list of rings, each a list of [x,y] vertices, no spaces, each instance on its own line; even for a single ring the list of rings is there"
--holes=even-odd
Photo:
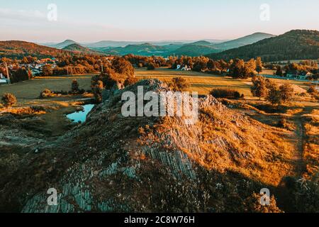
[[[25,41],[0,41],[0,57],[16,57],[18,59],[28,55],[33,57],[56,57],[63,53],[69,52]]]

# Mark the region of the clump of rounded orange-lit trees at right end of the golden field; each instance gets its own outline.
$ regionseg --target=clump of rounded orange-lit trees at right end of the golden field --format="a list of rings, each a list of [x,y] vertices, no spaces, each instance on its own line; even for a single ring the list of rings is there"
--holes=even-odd
[[[283,104],[293,99],[294,90],[291,84],[279,85],[271,79],[258,76],[252,78],[251,92],[253,96],[265,98],[273,105]]]

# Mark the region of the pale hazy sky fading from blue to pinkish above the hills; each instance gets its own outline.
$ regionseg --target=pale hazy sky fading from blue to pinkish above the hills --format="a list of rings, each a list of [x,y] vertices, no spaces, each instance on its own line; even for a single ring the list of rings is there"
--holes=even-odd
[[[47,19],[56,4],[57,21]],[[260,15],[269,5],[269,21]],[[233,39],[319,28],[318,0],[0,0],[0,40]],[[267,10],[267,9],[266,9]],[[268,14],[262,14],[268,15]]]

